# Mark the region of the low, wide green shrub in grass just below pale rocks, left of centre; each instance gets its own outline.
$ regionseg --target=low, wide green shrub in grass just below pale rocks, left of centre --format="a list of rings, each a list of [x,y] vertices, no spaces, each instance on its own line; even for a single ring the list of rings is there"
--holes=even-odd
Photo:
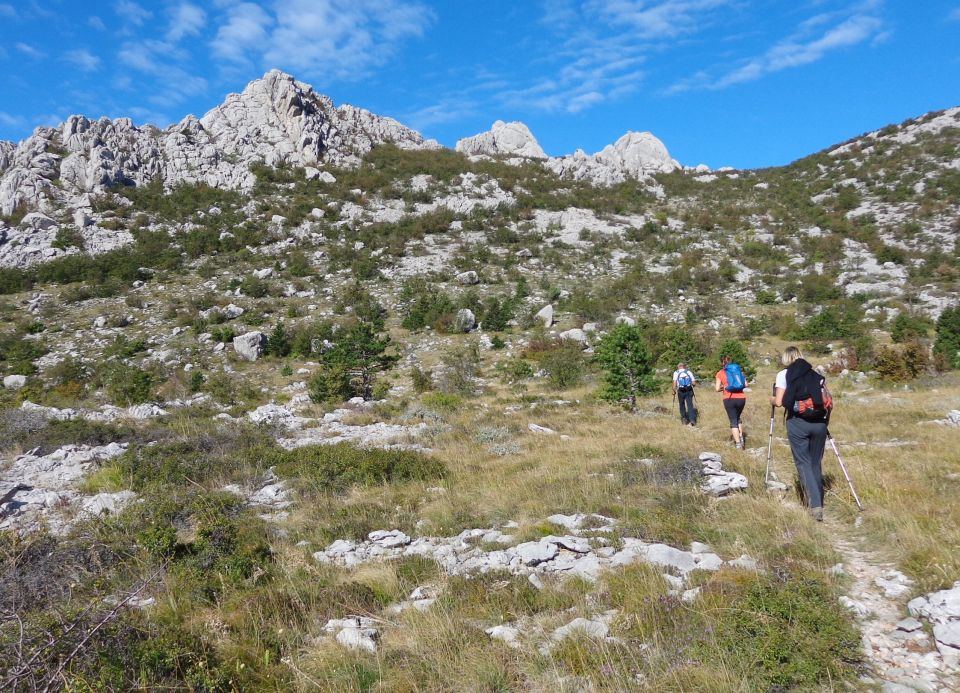
[[[346,443],[277,452],[271,461],[281,477],[334,491],[355,484],[428,481],[442,478],[446,472],[441,461],[420,452],[357,448]]]

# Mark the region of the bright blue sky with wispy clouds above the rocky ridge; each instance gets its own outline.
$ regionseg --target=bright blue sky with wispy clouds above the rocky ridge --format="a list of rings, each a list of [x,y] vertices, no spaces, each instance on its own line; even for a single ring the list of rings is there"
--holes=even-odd
[[[165,126],[279,68],[449,146],[522,120],[746,168],[960,105],[960,0],[0,0],[0,68],[0,139]]]

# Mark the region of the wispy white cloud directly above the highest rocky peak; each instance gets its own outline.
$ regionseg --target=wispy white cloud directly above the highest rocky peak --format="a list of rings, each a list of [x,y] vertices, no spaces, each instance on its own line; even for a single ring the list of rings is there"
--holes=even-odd
[[[268,14],[250,2],[229,8],[214,55],[246,63],[252,54],[304,76],[355,79],[433,21],[433,13],[412,0],[275,0],[271,9]]]

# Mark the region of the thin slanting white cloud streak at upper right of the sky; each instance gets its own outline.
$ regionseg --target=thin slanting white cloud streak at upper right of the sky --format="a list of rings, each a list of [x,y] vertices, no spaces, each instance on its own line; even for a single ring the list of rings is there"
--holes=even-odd
[[[831,25],[823,28],[825,22],[830,22]],[[774,44],[762,55],[726,70],[719,77],[711,75],[706,70],[698,72],[692,77],[677,82],[667,89],[666,93],[675,94],[695,89],[725,89],[736,84],[752,82],[782,70],[810,65],[823,59],[828,53],[842,48],[849,48],[867,41],[882,42],[889,35],[883,27],[883,21],[872,14],[854,14],[839,22],[835,15],[818,15],[801,24],[800,31],[796,35]],[[814,28],[818,33],[811,35],[811,29]]]

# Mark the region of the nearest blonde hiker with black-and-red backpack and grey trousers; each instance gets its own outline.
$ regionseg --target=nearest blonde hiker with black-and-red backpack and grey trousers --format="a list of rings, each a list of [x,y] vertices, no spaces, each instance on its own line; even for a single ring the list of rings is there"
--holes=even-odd
[[[770,403],[786,410],[787,437],[810,515],[823,522],[823,449],[833,406],[826,380],[813,370],[800,350],[787,347],[780,357]]]

